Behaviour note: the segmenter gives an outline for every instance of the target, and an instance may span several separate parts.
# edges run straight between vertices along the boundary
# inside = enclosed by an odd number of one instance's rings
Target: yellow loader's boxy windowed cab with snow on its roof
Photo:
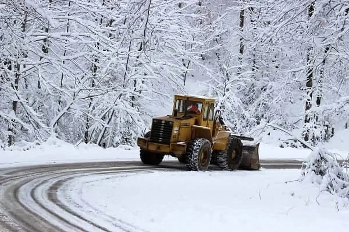
[[[212,133],[214,103],[214,98],[175,95],[172,116],[178,119],[195,118],[195,125],[209,127]]]

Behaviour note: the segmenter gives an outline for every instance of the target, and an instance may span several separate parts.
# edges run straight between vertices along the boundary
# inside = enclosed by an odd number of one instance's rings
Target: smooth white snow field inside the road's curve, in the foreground
[[[295,182],[299,176],[299,170],[92,175],[70,181],[60,194],[95,223],[119,221],[137,231],[347,229],[348,202]]]

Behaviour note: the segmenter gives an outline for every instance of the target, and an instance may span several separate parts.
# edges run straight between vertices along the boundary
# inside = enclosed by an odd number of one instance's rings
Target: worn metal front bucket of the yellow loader
[[[259,161],[259,143],[253,144],[246,141],[253,141],[253,138],[237,136],[243,143],[242,159],[239,169],[243,170],[259,170],[261,164]]]

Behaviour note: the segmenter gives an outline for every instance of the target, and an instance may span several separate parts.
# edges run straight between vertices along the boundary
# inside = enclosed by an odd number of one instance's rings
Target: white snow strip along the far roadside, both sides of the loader
[[[347,134],[344,135],[348,136]],[[346,147],[344,144],[348,140],[349,139],[345,139],[342,142],[333,140],[335,145],[329,143],[326,146],[330,149],[330,151],[339,154],[343,158],[346,158],[349,154],[349,147]],[[337,149],[337,147],[340,149]],[[309,149],[296,149],[291,147],[280,148],[276,143],[273,144],[269,141],[262,142],[259,147],[260,159],[304,160],[309,156],[309,154]],[[165,158],[165,160],[174,159],[175,158],[173,157]],[[118,148],[103,149],[97,145],[84,143],[81,143],[76,147],[58,139],[50,138],[42,145],[23,143],[22,145],[12,147],[11,150],[0,152],[0,167],[47,163],[126,160],[139,160],[138,147],[122,146]]]

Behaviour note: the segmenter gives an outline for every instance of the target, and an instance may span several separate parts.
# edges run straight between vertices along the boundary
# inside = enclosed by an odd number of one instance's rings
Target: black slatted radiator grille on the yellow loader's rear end
[[[172,134],[172,121],[154,119],[151,125],[150,142],[170,144]]]

